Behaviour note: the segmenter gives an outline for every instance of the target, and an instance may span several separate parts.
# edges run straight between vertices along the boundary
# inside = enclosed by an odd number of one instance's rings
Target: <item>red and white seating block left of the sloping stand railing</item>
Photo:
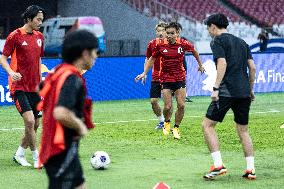
[[[218,0],[122,0],[147,16],[164,21],[176,20],[184,26],[183,36],[193,41],[210,39],[203,20],[210,14],[221,12],[230,20],[229,30],[235,35],[256,38],[260,28],[251,24]]]

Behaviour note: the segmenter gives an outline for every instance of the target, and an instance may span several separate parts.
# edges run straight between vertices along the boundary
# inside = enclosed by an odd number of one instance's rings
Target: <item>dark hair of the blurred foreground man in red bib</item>
[[[64,62],[72,64],[82,56],[84,50],[98,48],[97,37],[87,30],[70,32],[63,41],[62,58]]]

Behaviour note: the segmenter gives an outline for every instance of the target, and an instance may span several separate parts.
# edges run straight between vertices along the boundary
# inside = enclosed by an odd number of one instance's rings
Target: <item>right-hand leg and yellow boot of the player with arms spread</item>
[[[185,109],[185,87],[179,88],[175,91],[176,101],[177,101],[177,110],[175,113],[175,125],[173,128],[173,134],[175,139],[180,139],[179,125],[182,122]]]

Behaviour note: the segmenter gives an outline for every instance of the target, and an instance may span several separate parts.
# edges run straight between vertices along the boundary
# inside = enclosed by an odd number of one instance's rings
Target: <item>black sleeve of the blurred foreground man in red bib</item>
[[[82,81],[77,76],[70,75],[67,77],[61,88],[57,106],[63,106],[69,110],[73,110],[82,87]]]

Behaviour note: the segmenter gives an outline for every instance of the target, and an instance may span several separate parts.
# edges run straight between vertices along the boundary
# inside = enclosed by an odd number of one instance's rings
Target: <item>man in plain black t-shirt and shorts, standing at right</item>
[[[237,133],[247,162],[243,177],[256,179],[253,144],[248,133],[249,109],[251,101],[255,98],[254,61],[246,42],[227,32],[229,23],[225,15],[213,14],[206,19],[205,25],[213,37],[210,46],[217,67],[217,78],[211,94],[212,102],[202,123],[204,137],[214,161],[214,166],[204,175],[204,179],[211,180],[227,172],[222,162],[214,127],[217,122],[223,121],[229,109],[234,112]]]

